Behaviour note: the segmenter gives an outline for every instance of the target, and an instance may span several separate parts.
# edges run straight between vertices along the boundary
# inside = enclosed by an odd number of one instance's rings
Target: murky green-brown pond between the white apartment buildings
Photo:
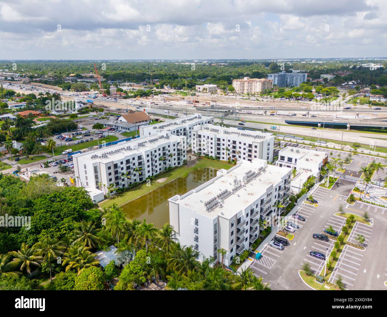
[[[215,176],[216,170],[213,168],[192,171],[187,177],[176,178],[121,207],[128,219],[140,221],[146,219],[147,223],[153,223],[156,228],[162,228],[164,223],[169,223],[168,199],[175,195],[182,195]]]

